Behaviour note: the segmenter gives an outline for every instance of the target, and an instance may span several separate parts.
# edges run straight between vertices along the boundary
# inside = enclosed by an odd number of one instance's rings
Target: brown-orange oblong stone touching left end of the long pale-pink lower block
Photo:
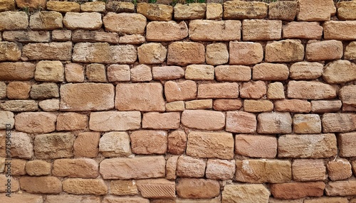
[[[99,165],[89,158],[57,159],[53,162],[52,174],[59,177],[95,178],[99,175]]]

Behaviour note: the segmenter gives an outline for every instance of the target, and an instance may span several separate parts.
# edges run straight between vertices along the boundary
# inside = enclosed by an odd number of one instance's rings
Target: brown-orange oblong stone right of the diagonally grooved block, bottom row
[[[216,180],[182,178],[177,183],[177,194],[182,198],[207,199],[217,197],[219,193],[219,182]]]

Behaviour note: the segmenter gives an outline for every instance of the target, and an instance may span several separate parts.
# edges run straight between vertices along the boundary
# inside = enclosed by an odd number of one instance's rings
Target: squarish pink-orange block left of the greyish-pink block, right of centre
[[[257,120],[255,114],[244,111],[226,112],[226,131],[233,133],[255,133],[256,126]]]

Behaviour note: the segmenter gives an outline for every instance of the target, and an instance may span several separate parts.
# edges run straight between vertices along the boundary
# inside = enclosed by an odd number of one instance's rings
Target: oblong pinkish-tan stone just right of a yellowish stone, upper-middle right
[[[215,77],[217,81],[247,82],[251,79],[251,67],[245,65],[219,65],[215,67]]]

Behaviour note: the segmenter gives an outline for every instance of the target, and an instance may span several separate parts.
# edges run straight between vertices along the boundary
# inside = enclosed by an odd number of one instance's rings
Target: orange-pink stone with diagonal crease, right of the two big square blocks
[[[192,80],[164,83],[164,96],[168,102],[196,99],[197,83]]]

